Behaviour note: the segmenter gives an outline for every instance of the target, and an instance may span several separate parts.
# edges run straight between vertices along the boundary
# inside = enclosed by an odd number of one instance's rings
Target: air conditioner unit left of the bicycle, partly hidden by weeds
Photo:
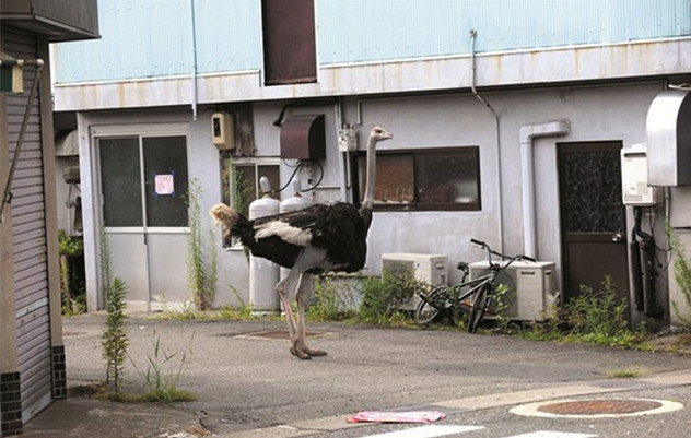
[[[382,254],[382,269],[391,273],[411,271],[415,280],[436,286],[448,281],[446,271],[446,256],[418,254],[408,252]],[[419,297],[401,306],[401,310],[414,310]]]

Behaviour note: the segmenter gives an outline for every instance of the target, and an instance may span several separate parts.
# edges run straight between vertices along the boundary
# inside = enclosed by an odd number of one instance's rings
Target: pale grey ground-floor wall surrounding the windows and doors
[[[356,97],[343,99],[342,114],[331,105],[317,107],[291,107],[286,116],[294,114],[325,114],[327,157],[324,161],[325,177],[319,189],[311,196],[317,202],[331,202],[343,198],[349,178],[341,171],[341,156],[337,147],[337,126],[355,127],[359,147],[364,150],[366,135],[374,125],[385,127],[394,139],[379,143],[383,150],[407,147],[480,146],[481,211],[467,212],[377,212],[368,237],[366,270],[380,272],[380,257],[385,252],[443,253],[448,256],[449,280],[458,280],[455,269],[457,260],[481,260],[484,254],[469,245],[469,239],[487,240],[507,253],[524,252],[523,206],[520,185],[519,129],[531,123],[552,120],[569,120],[571,132],[565,137],[539,138],[534,142],[537,251],[540,260],[555,261],[561,281],[561,224],[559,217],[559,184],[557,169],[558,142],[621,141],[624,146],[645,141],[645,118],[648,105],[663,90],[661,82],[640,84],[598,85],[567,87],[559,86],[531,91],[482,92],[482,96],[495,108],[500,118],[500,149],[496,144],[495,120],[492,113],[470,93],[445,95],[375,98],[359,102]],[[256,156],[277,157],[280,154],[280,129],[272,125],[284,102],[260,102],[254,105],[254,135]],[[359,110],[360,108],[360,110]],[[197,120],[191,119],[188,107],[137,111],[85,113],[80,118],[80,145],[82,164],[92,163],[89,135],[83,135],[84,126],[127,125],[163,121],[190,123],[190,178],[202,182],[202,211],[221,199],[219,155],[210,138],[210,116],[213,108],[200,107]],[[84,125],[85,123],[85,125]],[[87,128],[86,128],[87,129]],[[86,156],[84,156],[84,154]],[[84,171],[84,169],[82,169]],[[292,168],[283,165],[283,184]],[[501,191],[497,187],[501,175]],[[304,176],[304,175],[303,175]],[[313,174],[316,179],[316,175]],[[93,188],[82,176],[84,198]],[[306,181],[303,181],[306,185]],[[691,202],[684,190],[672,197],[672,205]],[[291,196],[291,191],[283,197]],[[677,199],[678,198],[678,199]],[[501,205],[500,205],[501,203]],[[95,218],[84,205],[85,227],[95,229]],[[657,210],[663,217],[661,206]],[[500,214],[501,212],[501,214]],[[86,217],[89,216],[89,217]],[[628,210],[629,238],[633,226],[631,209]],[[212,229],[219,254],[218,305],[237,305],[236,291],[242,299],[248,300],[248,262],[239,249],[221,248],[221,230],[211,225],[204,215],[203,225]],[[687,221],[688,222],[688,221]],[[663,247],[664,221],[656,222],[655,237]],[[93,237],[86,244],[94,246]],[[87,250],[87,256],[93,250]],[[93,252],[92,252],[93,253]],[[181,256],[180,256],[181,257]],[[97,264],[87,268],[90,287],[94,287]],[[666,273],[660,272],[658,287],[666,295]],[[186,285],[181,285],[186,287]],[[90,296],[93,292],[90,292]],[[93,298],[93,296],[92,296]]]

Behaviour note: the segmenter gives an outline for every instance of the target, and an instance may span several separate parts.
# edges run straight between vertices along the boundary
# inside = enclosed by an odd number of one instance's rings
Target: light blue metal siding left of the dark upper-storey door
[[[192,73],[191,0],[98,0],[98,40],[57,45],[56,83]],[[259,0],[194,0],[198,73],[261,67]]]

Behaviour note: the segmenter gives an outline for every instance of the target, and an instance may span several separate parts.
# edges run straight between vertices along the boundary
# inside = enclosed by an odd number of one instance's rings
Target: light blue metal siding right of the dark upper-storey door
[[[691,35],[689,0],[318,0],[323,64]]]

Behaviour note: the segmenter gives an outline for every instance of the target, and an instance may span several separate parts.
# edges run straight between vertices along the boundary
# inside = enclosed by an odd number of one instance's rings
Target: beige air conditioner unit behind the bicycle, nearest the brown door
[[[470,279],[484,275],[487,261],[470,263]],[[554,262],[515,261],[500,273],[497,283],[508,287],[506,316],[518,321],[544,321],[559,306]]]

